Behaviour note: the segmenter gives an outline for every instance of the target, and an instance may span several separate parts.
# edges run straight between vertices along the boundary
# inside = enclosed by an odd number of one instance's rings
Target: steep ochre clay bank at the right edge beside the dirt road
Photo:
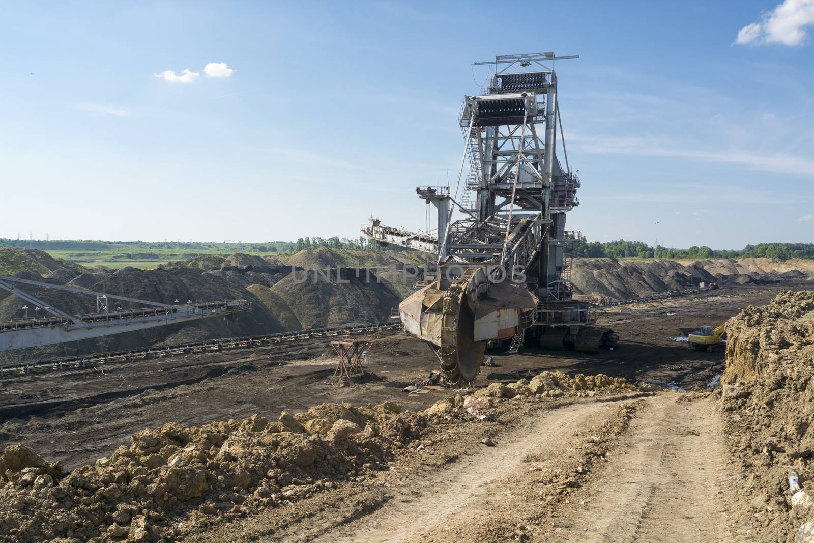
[[[726,323],[723,407],[733,482],[759,541],[814,541],[814,291],[781,291]]]

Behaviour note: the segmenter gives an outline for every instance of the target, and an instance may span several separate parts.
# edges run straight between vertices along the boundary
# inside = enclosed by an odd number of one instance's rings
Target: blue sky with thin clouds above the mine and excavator
[[[471,63],[554,50],[580,55],[554,66],[569,229],[812,242],[814,5],[778,1],[3,2],[0,237],[417,230]]]

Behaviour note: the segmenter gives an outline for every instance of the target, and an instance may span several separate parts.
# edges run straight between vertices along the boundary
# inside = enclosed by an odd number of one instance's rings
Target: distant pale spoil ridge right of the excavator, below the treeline
[[[698,287],[699,282],[762,285],[784,280],[814,279],[814,261],[781,261],[768,258],[713,259],[682,263],[615,258],[579,258],[571,281],[575,291],[613,300],[629,300],[671,289]]]

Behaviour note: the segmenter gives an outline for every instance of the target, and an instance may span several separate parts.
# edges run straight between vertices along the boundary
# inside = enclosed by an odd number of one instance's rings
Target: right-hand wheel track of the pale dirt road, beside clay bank
[[[750,541],[728,514],[720,415],[709,400],[659,396],[641,409],[567,541]]]

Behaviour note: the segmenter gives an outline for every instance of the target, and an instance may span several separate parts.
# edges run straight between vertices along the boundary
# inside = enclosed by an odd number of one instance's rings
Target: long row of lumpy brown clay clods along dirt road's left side
[[[632,389],[605,375],[544,372],[418,413],[392,402],[345,403],[283,411],[277,422],[253,415],[202,427],[168,423],[134,434],[110,458],[66,476],[31,449],[10,445],[0,457],[0,541],[173,541],[213,520],[374,476],[427,427],[475,423],[505,401]]]

